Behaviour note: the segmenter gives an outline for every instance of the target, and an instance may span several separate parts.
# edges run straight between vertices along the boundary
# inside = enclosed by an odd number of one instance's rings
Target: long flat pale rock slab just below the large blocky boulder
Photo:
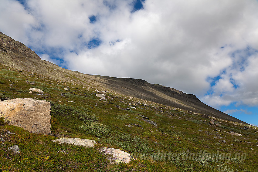
[[[86,146],[86,147],[94,147],[94,144],[97,144],[95,140],[70,138],[70,137],[59,138],[59,139],[53,140],[53,142],[68,143],[68,144],[74,144],[76,146]]]

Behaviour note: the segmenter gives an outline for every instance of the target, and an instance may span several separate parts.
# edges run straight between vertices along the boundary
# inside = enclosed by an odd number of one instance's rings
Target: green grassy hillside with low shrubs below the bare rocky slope
[[[29,94],[31,87],[44,93]],[[106,100],[99,100],[96,88],[93,83],[80,86],[0,65],[0,97],[50,101],[52,130],[51,136],[33,134],[0,119],[0,137],[5,140],[0,143],[0,171],[258,171],[257,127],[243,130],[245,124],[220,119],[209,125],[210,119],[201,113],[111,91]],[[124,110],[130,106],[136,110]],[[93,139],[97,145],[85,148],[51,141],[57,137]],[[20,154],[8,150],[15,144]],[[134,160],[110,164],[100,147],[119,148]]]

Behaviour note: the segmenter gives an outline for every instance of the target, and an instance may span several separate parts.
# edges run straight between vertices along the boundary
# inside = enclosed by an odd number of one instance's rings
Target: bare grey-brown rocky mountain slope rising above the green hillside
[[[186,111],[205,113],[224,120],[245,123],[202,103],[195,95],[186,94],[174,88],[151,84],[141,79],[88,75],[61,68],[41,60],[31,49],[2,32],[0,32],[0,63],[30,75],[54,78],[78,86],[88,86]]]

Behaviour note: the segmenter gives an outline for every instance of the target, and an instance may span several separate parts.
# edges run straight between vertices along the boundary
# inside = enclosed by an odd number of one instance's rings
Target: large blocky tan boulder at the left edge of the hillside
[[[0,102],[0,117],[32,133],[50,134],[50,109],[46,100],[11,99]]]

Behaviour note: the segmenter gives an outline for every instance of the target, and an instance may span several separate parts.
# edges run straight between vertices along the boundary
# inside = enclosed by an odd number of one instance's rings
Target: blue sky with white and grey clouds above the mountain
[[[86,74],[195,94],[258,125],[257,0],[0,0],[0,31]]]

